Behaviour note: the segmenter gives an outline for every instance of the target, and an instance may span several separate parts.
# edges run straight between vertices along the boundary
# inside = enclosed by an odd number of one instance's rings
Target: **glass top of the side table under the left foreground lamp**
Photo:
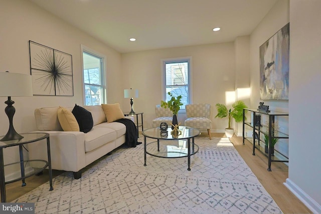
[[[22,135],[24,138],[18,140],[0,141],[0,148],[31,143],[49,137],[48,133],[43,132],[22,133],[20,135]],[[0,139],[2,139],[2,137],[0,137]]]

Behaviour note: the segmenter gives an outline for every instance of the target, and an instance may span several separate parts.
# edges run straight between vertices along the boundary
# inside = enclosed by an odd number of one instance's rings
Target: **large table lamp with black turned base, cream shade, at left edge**
[[[9,130],[1,141],[22,139],[23,136],[18,134],[14,128],[13,118],[16,112],[11,97],[33,96],[31,75],[18,74],[11,72],[0,72],[0,97],[8,97],[5,102],[7,107],[5,112],[9,119]]]

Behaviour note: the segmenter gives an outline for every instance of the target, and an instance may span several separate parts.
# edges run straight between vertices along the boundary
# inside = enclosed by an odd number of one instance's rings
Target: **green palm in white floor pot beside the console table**
[[[243,120],[243,109],[247,108],[247,105],[245,105],[244,101],[237,100],[232,104],[233,110],[232,108],[227,109],[224,104],[217,103],[215,106],[217,109],[217,115],[215,116],[215,118],[227,117],[229,125],[227,128],[225,128],[225,135],[227,137],[232,137],[234,134],[234,129],[231,128],[231,120],[232,118],[234,118],[236,123],[241,122]]]

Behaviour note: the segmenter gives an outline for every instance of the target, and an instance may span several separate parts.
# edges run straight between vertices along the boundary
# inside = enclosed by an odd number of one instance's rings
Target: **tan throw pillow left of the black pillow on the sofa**
[[[57,115],[59,123],[64,131],[80,131],[78,122],[71,111],[59,106]]]

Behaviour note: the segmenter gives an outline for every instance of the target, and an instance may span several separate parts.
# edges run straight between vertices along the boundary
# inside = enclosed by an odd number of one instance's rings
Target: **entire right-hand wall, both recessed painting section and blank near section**
[[[259,98],[259,47],[290,23],[289,101],[266,101],[270,109],[289,113],[279,126],[289,133],[277,143],[289,155],[289,178],[285,185],[314,213],[321,213],[321,144],[318,133],[321,114],[321,2],[319,0],[279,0],[250,35],[251,107]],[[288,125],[287,125],[288,124]],[[273,163],[272,172],[273,173]]]

